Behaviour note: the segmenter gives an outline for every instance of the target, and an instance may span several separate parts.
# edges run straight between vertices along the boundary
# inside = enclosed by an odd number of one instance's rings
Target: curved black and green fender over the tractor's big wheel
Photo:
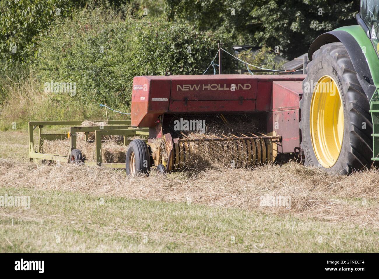
[[[349,27],[354,27],[352,32],[348,32]],[[370,100],[376,90],[376,85],[379,85],[379,84],[374,83],[376,82],[376,80],[375,81],[373,80],[373,75],[371,74],[371,71],[370,71],[370,65],[367,60],[367,55],[371,55],[371,60],[370,60],[372,61],[371,63],[376,64],[376,65],[371,65],[371,67],[374,67],[376,69],[379,69],[379,59],[377,58],[376,52],[374,50],[373,45],[370,42],[370,39],[367,38],[363,29],[360,26],[349,26],[349,27],[338,28],[336,30],[333,30],[333,31],[330,31],[318,36],[309,47],[308,57],[309,57],[309,60],[312,61],[313,53],[324,44],[336,43],[336,42],[342,43],[345,46],[351,58],[354,69],[357,72],[358,81],[360,85],[362,86],[363,91],[365,91],[367,98]],[[357,39],[352,35],[352,33],[359,32],[359,30],[357,30],[357,28],[355,27],[358,27],[360,28],[360,30],[362,30],[363,35],[366,37],[368,41],[363,39],[361,36],[360,38],[361,44],[358,43]],[[345,29],[348,31],[339,30],[339,29]],[[362,39],[364,43],[362,43]],[[363,49],[364,49],[363,47],[365,47],[366,53],[363,52]],[[372,58],[372,55],[375,55],[375,59]]]

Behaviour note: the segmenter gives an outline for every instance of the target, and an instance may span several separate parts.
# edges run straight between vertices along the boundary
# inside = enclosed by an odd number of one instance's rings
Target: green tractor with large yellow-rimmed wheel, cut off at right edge
[[[379,0],[356,17],[313,41],[300,102],[305,165],[337,174],[379,161]]]

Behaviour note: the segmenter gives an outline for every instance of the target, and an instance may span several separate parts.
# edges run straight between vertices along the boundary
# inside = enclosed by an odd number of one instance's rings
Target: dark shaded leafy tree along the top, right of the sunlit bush
[[[169,20],[232,33],[236,44],[266,45],[292,59],[324,32],[356,25],[359,1],[166,0]]]

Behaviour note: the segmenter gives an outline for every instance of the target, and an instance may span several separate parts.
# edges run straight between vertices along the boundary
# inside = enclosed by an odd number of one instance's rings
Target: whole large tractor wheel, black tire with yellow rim
[[[370,102],[342,43],[313,54],[300,101],[305,165],[347,174],[371,166]]]

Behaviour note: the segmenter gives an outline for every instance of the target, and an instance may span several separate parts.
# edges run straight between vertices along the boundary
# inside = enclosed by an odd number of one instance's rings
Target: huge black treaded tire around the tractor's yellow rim
[[[370,102],[359,84],[348,52],[342,43],[330,43],[317,50],[312,58],[307,66],[307,77],[303,81],[303,96],[300,101],[299,128],[302,136],[301,148],[305,157],[304,164],[318,166],[334,174],[347,174],[370,167],[373,156],[371,137],[373,125],[368,112]],[[313,91],[306,88],[307,83],[316,83],[325,75],[333,77],[338,84],[344,115],[341,152],[334,166],[330,168],[321,166],[313,150],[310,136],[310,106]]]

